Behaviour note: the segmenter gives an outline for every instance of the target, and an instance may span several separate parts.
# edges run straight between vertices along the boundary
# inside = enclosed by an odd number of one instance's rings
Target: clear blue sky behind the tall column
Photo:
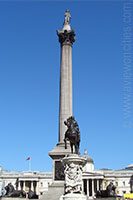
[[[59,119],[56,30],[62,28],[68,8],[76,32],[73,114],[81,132],[80,152],[88,150],[96,169],[121,169],[133,163],[133,105],[127,117],[123,100],[123,7],[122,1],[0,1],[0,165],[4,169],[26,171],[30,156],[32,170],[52,171],[48,152],[58,142]],[[129,96],[132,80],[130,84]],[[133,102],[132,96],[129,101]]]

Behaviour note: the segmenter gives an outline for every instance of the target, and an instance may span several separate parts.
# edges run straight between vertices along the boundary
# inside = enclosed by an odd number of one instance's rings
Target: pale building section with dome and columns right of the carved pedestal
[[[83,171],[83,191],[91,199],[99,190],[105,190],[110,182],[116,186],[116,193],[123,196],[124,193],[133,192],[133,165],[124,169],[94,169],[94,161],[85,151],[87,164]]]

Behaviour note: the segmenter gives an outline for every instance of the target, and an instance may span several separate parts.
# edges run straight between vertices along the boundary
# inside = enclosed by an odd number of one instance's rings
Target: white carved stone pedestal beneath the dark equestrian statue
[[[60,200],[87,199],[82,193],[82,171],[86,159],[78,154],[69,154],[62,159],[64,165],[64,195]]]

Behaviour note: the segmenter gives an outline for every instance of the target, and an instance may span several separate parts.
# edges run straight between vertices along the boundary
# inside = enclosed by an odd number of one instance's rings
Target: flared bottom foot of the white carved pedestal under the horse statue
[[[87,196],[83,194],[66,194],[62,195],[59,200],[87,200]]]

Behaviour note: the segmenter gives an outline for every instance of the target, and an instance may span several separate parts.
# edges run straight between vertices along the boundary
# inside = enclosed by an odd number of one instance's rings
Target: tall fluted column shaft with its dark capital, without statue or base
[[[64,121],[72,116],[72,44],[75,32],[62,30],[57,31],[57,35],[61,44],[59,144],[62,144],[67,129]]]

